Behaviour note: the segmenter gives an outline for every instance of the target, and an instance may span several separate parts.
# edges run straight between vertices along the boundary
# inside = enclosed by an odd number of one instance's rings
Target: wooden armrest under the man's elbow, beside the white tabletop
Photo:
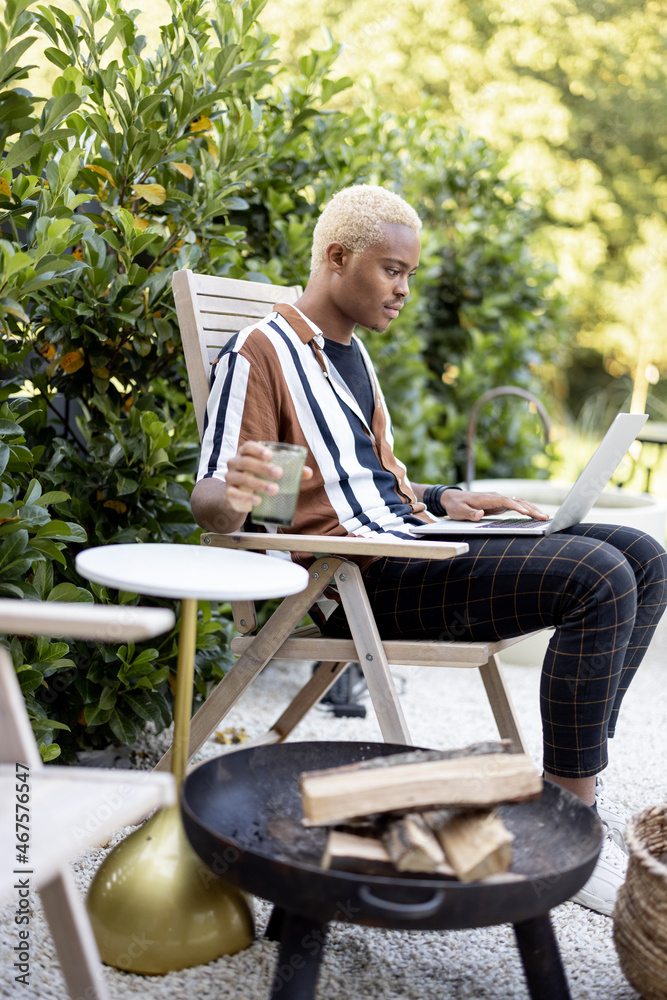
[[[211,531],[201,536],[202,545],[228,549],[258,549],[262,552],[311,552],[313,555],[396,556],[403,559],[451,559],[468,551],[465,542],[433,542],[416,538],[393,541],[338,535],[273,535],[237,531],[220,535]]]

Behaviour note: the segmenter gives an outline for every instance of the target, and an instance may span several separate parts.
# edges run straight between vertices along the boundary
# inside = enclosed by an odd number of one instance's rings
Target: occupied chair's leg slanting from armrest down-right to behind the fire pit
[[[346,562],[336,570],[334,576],[382,737],[387,743],[411,746],[412,740],[361,571],[355,563]]]

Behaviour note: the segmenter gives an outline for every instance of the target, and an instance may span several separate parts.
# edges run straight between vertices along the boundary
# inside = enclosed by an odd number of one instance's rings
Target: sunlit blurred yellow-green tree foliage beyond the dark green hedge
[[[661,0],[269,0],[282,58],[330,28],[339,66],[387,109],[462,123],[507,156],[542,206],[537,246],[558,265],[573,360],[594,348],[612,374],[647,382],[667,369],[667,5]],[[657,235],[656,235],[657,234]],[[638,263],[638,261],[641,263]],[[639,275],[637,273],[641,272]],[[664,284],[664,282],[663,282]],[[641,319],[635,306],[641,301]]]

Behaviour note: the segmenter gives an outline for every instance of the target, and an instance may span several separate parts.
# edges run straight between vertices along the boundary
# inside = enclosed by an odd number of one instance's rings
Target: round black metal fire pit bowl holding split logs
[[[213,872],[319,925],[349,921],[413,930],[516,925],[547,914],[588,880],[600,850],[600,821],[580,799],[549,782],[538,799],[499,807],[515,837],[516,881],[462,883],[427,874],[323,869],[327,833],[301,826],[301,773],[408,749],[387,743],[285,743],[206,761],[182,790],[190,842]]]

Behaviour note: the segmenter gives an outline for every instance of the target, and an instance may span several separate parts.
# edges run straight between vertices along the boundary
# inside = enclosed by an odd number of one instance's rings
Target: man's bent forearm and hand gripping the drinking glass
[[[190,502],[197,523],[222,534],[238,531],[247,514],[261,503],[260,494],[278,492],[282,474],[280,466],[271,463],[270,448],[246,441],[229,460],[224,483],[213,477],[195,485]],[[304,466],[303,478],[312,479],[312,475],[313,470]]]

